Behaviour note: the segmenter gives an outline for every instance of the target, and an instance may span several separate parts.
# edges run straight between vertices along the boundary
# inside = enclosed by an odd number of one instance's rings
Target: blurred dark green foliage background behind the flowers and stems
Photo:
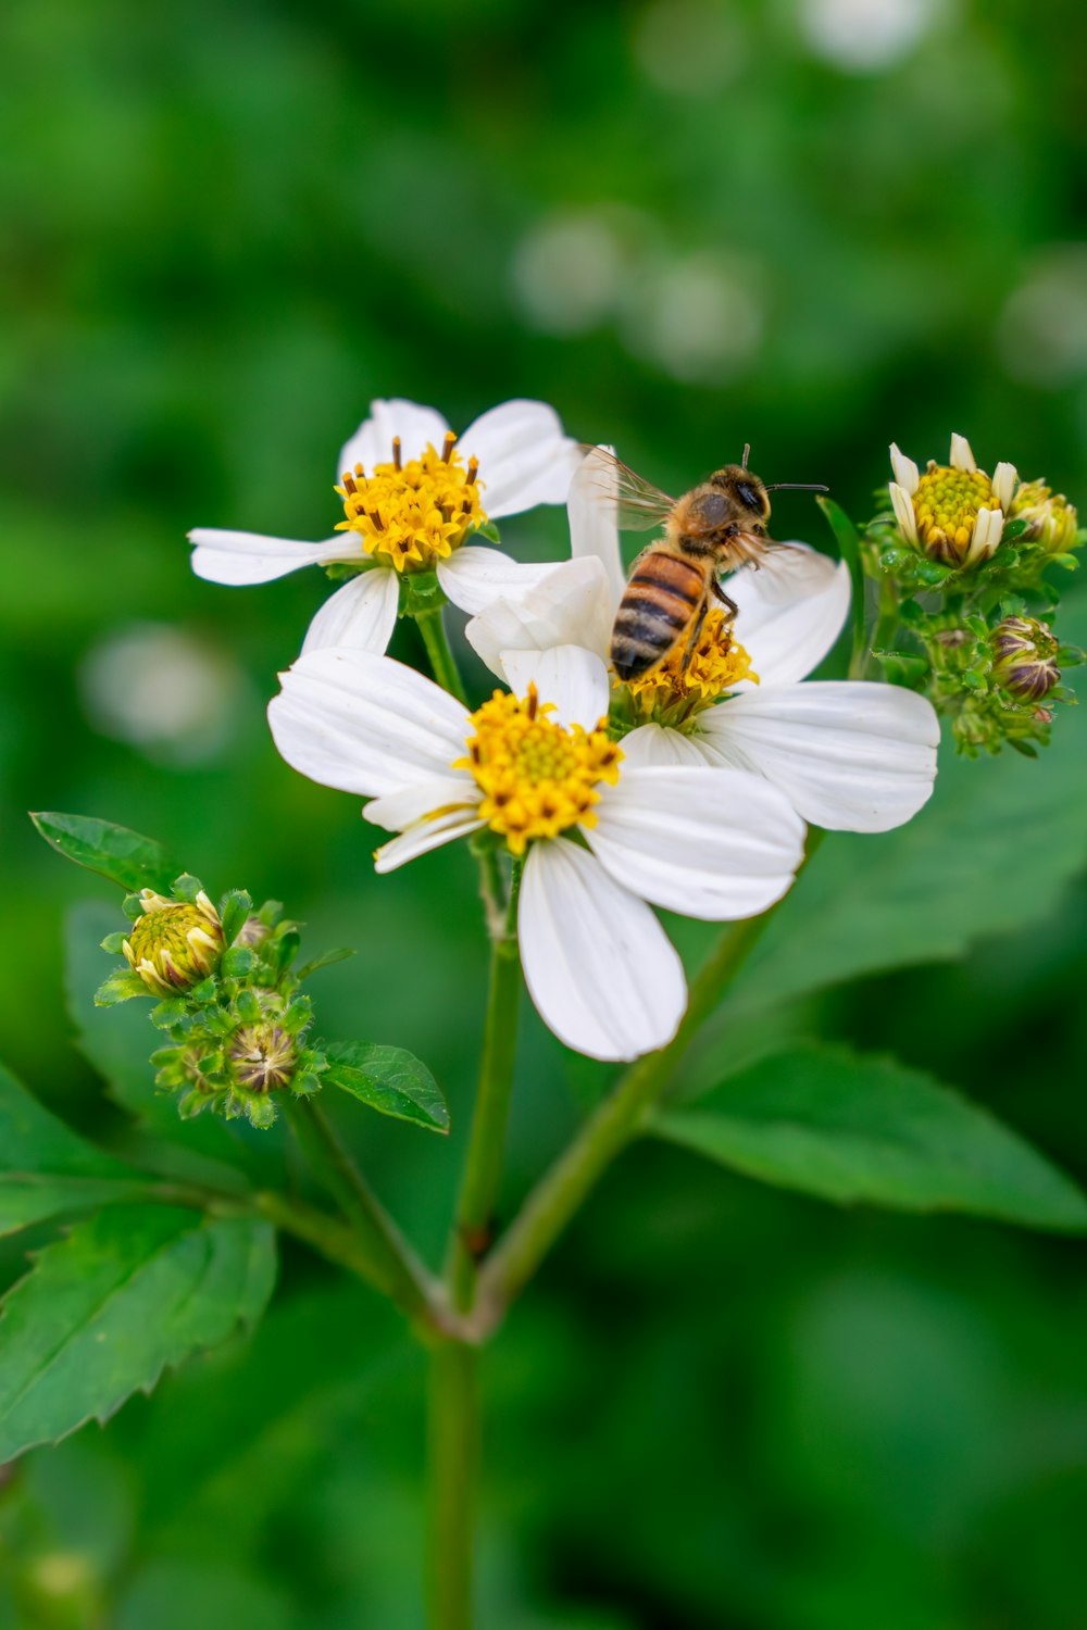
[[[321,1027],[419,1051],[456,1131],[341,1121],[437,1257],[482,999],[469,859],[372,875],[357,800],[262,717],[324,580],[197,582],[186,530],[326,536],[380,394],[455,425],[539,396],[675,487],[750,440],[860,517],[888,440],[944,458],[955,429],[1085,500],[1084,44],[1072,0],[8,0],[7,1063],[117,1134],[62,994],[65,914],[96,903],[86,1004],[116,896],[24,810],[160,836],[213,892],[285,898],[315,950],[360,947]],[[779,515],[828,546],[808,499]],[[562,515],[505,536],[557,556]],[[1045,766],[999,769],[1045,799]],[[1087,1178],[1084,895],[789,1022],[932,1068]],[[600,1079],[525,1012],[507,1209]],[[1082,1630],[1084,1280],[1074,1242],[639,1149],[487,1358],[484,1630]],[[11,1469],[0,1625],[417,1630],[420,1403],[386,1309],[287,1249],[253,1343]]]

